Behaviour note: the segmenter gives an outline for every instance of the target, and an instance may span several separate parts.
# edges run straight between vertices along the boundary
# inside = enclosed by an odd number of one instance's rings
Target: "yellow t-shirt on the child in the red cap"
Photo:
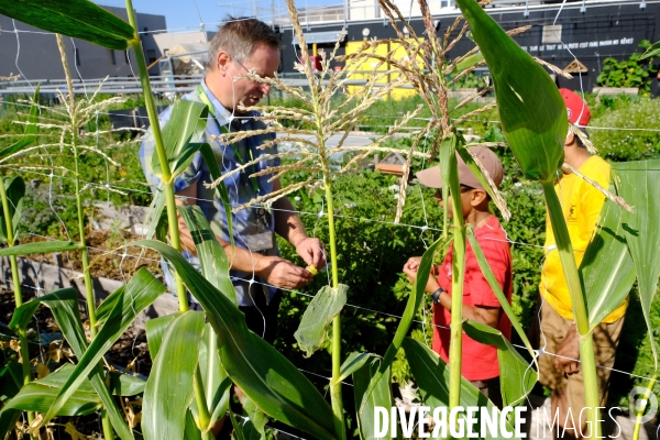
[[[580,173],[597,182],[603,188],[609,186],[609,164],[598,156],[591,156]],[[565,174],[554,185],[562,206],[575,263],[580,266],[586,245],[598,221],[605,196],[574,174]],[[573,309],[566,278],[559,261],[559,252],[552,233],[550,218],[546,217],[546,260],[541,273],[541,296],[562,317],[573,320]],[[618,306],[603,322],[612,323],[626,314],[628,298]]]

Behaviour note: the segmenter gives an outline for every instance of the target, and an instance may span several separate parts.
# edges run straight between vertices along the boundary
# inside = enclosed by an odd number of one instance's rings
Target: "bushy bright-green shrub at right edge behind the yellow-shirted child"
[[[605,101],[608,109],[591,120],[590,125],[607,128],[590,131],[598,153],[610,161],[639,161],[653,158],[660,152],[660,101],[648,98],[617,98]],[[610,130],[628,128],[637,130]],[[587,129],[588,130],[588,129]]]

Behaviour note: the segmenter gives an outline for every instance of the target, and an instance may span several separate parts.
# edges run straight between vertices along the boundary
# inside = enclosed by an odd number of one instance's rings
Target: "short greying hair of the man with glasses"
[[[252,55],[254,50],[264,45],[266,47],[282,48],[279,35],[266,23],[246,16],[228,16],[226,23],[218,29],[210,44],[210,57],[207,69],[213,70],[218,63],[218,53],[224,51],[239,62]]]

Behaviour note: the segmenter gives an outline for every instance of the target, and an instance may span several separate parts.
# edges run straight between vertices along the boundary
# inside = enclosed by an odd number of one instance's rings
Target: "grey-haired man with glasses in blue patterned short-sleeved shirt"
[[[277,153],[274,143],[260,148],[262,144],[274,140],[272,133],[253,135],[229,145],[213,140],[212,136],[266,128],[263,121],[255,120],[257,112],[241,111],[240,105],[256,106],[268,95],[271,87],[242,76],[253,70],[261,77],[273,77],[279,65],[280,45],[278,34],[267,24],[255,19],[230,18],[210,43],[206,77],[195,91],[183,97],[208,106],[209,119],[200,141],[211,145],[222,173]],[[170,112],[172,107],[160,116],[163,123],[169,119]],[[146,179],[152,190],[155,190],[158,182],[151,169],[153,154],[154,145],[150,132],[140,148],[140,158]],[[264,160],[224,180],[232,208],[280,189],[279,179],[268,182],[271,175],[250,177],[278,164],[278,160]],[[272,209],[253,206],[234,213],[230,232],[222,201],[216,196],[215,189],[205,186],[212,180],[209,168],[201,155],[197,154],[190,166],[175,182],[177,204],[197,205],[201,208],[231,263],[230,276],[235,287],[239,307],[245,314],[248,327],[273,342],[280,298],[278,289],[299,288],[312,279],[309,271],[279,257],[274,233],[292,243],[300,257],[317,268],[326,265],[323,245],[318,239],[307,235],[286,197],[275,201]],[[185,256],[193,264],[198,264],[195,243],[180,217],[179,230]],[[234,249],[230,244],[230,233],[233,235]],[[165,263],[163,266],[170,292],[176,292],[173,288],[170,272]],[[195,298],[190,299],[195,307]]]

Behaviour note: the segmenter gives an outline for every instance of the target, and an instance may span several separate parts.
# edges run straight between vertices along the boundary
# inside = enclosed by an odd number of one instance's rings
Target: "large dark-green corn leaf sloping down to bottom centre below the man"
[[[268,416],[320,439],[334,439],[330,405],[294,364],[248,330],[244,315],[165,243],[131,243],[160,252],[199,300],[219,338],[220,360],[231,380]]]

